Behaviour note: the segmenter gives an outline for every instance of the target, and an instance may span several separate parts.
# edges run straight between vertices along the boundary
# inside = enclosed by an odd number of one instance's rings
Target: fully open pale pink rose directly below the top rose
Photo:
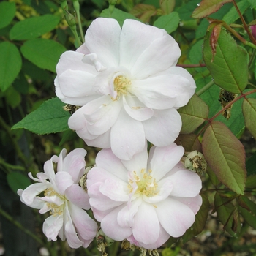
[[[146,147],[131,160],[102,149],[89,170],[87,187],[94,217],[110,238],[157,249],[170,236],[182,236],[202,204],[197,173],[184,168],[184,148]]]

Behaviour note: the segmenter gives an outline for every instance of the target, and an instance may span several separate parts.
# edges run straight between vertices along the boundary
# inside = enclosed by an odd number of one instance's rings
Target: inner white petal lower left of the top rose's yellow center
[[[119,116],[121,102],[114,101],[110,96],[94,99],[83,108],[87,129],[91,135],[102,135],[107,132]]]

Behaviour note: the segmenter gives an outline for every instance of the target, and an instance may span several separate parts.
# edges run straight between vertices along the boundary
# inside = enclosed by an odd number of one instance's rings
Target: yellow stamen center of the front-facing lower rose
[[[154,197],[159,193],[159,189],[157,181],[153,178],[150,173],[152,170],[148,170],[146,172],[145,169],[140,170],[140,175],[138,175],[135,171],[133,172],[133,178],[129,180],[128,188],[130,192],[133,192],[135,185],[137,185],[137,189],[135,190],[135,194],[146,195],[147,197]]]

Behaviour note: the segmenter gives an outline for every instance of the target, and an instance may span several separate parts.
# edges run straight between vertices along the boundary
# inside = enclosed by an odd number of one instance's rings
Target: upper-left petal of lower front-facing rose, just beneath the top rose
[[[95,159],[97,167],[101,167],[104,170],[107,170],[108,173],[100,172],[97,178],[99,178],[99,181],[102,181],[100,176],[105,178],[113,178],[117,177],[120,178],[121,181],[127,182],[127,169],[122,164],[121,160],[116,157],[110,148],[108,149],[102,149],[97,154],[97,157]],[[89,171],[89,175],[94,168],[92,168]]]

